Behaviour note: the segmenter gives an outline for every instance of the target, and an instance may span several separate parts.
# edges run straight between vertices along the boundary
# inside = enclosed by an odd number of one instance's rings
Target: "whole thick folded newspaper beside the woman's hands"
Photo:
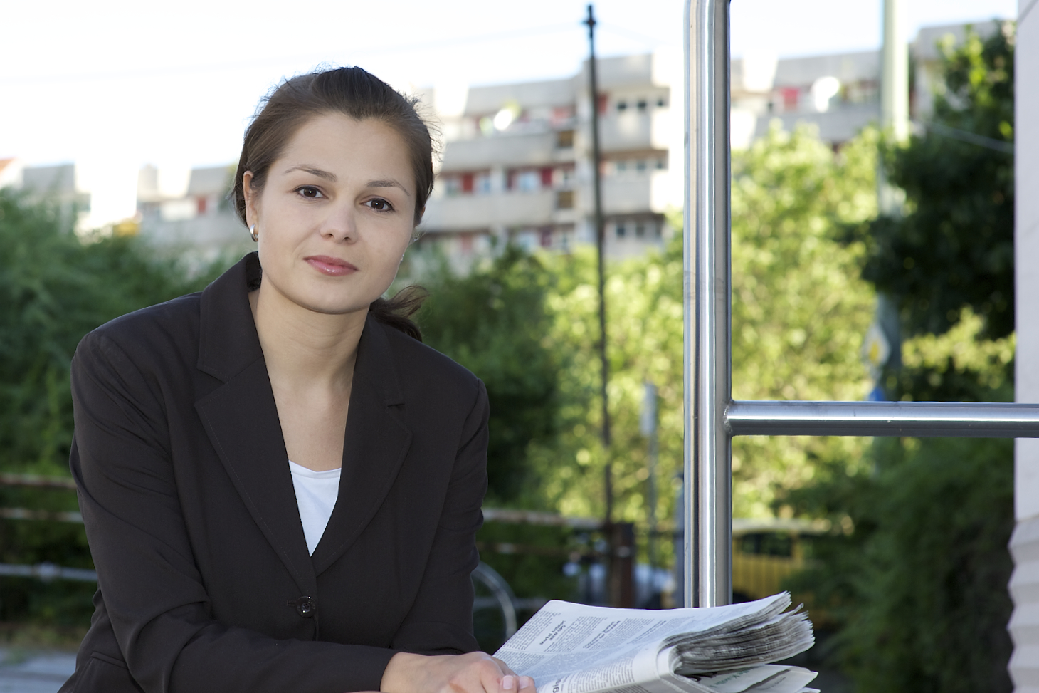
[[[610,609],[553,600],[495,657],[537,693],[800,693],[816,672],[771,664],[811,647],[790,593],[705,609]]]

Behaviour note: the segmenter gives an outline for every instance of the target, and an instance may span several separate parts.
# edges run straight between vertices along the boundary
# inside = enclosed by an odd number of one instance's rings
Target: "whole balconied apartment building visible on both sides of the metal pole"
[[[986,35],[996,24],[979,24]],[[912,114],[926,120],[940,88],[939,41],[963,26],[927,27],[910,46]],[[731,63],[732,147],[773,122],[807,123],[840,147],[880,120],[880,53],[862,51]],[[683,66],[676,53],[598,61],[602,197],[611,258],[659,248],[683,203]],[[565,252],[593,242],[591,103],[587,65],[569,79],[422,95],[443,124],[443,160],[419,254],[438,248],[458,266],[504,242]]]

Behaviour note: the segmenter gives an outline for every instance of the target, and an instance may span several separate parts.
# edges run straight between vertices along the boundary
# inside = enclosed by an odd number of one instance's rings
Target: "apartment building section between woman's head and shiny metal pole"
[[[601,59],[602,199],[611,257],[660,247],[682,207],[677,55]],[[677,70],[675,70],[677,69]],[[443,158],[418,254],[464,264],[497,245],[567,251],[594,242],[587,66],[569,79],[423,94],[443,124]],[[460,98],[459,98],[460,97]]]

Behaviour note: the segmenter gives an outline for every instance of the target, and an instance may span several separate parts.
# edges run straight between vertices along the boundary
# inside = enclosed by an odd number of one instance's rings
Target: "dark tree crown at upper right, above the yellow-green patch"
[[[998,338],[1014,329],[1014,157],[998,149],[1013,142],[1013,25],[984,41],[968,31],[942,51],[934,125],[908,146],[886,148],[906,213],[869,225],[863,276],[898,297],[913,331],[944,332],[969,306]],[[971,134],[988,146],[964,140]]]

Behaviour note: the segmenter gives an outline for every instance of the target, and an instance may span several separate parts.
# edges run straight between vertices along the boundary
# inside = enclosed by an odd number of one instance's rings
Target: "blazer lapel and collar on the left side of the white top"
[[[317,578],[248,304],[247,290],[259,280],[259,259],[250,254],[203,292],[198,368],[224,384],[195,410],[252,519],[302,593],[314,594]]]

